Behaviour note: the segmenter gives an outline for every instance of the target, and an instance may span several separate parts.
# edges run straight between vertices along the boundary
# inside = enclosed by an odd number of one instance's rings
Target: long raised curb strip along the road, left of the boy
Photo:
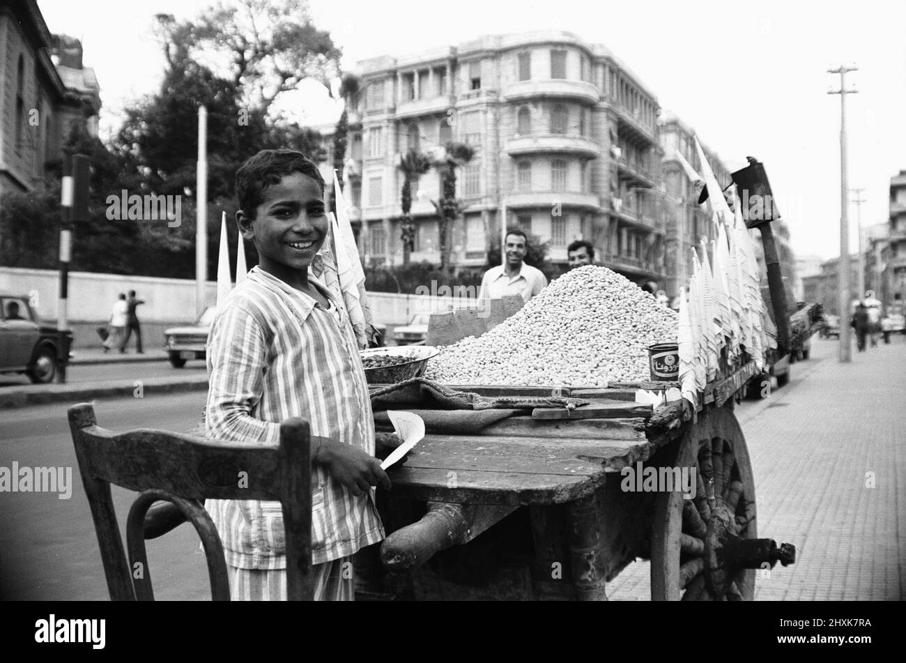
[[[141,383],[142,397],[148,394],[170,394],[181,391],[207,389],[207,375],[191,380],[118,380],[89,385],[48,385],[43,388],[0,389],[0,409],[25,408],[49,403],[76,403],[104,397],[125,398],[135,396],[136,382]]]

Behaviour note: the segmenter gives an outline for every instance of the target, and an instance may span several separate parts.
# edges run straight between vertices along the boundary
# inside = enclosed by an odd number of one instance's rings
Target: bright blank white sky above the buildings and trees
[[[101,84],[101,135],[124,106],[157,90],[164,68],[154,14],[192,18],[207,0],[38,0],[53,33],[80,37]],[[314,24],[342,47],[344,69],[377,55],[455,45],[483,34],[564,30],[602,43],[731,169],[763,161],[797,255],[840,255],[842,64],[848,187],[862,225],[888,218],[890,178],[906,170],[903,0],[310,0]],[[339,115],[323,87],[286,104],[313,125]],[[850,194],[850,198],[855,195]],[[849,207],[856,249],[857,207]]]

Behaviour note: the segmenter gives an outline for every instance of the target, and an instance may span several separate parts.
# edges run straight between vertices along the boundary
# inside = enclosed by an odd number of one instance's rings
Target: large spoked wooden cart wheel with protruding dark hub
[[[752,601],[755,570],[725,554],[726,543],[757,538],[755,480],[733,410],[711,410],[675,446],[672,466],[695,468],[697,488],[693,499],[656,497],[651,600]]]

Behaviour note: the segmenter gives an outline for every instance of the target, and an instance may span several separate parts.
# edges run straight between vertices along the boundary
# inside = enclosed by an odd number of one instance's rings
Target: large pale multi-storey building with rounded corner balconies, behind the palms
[[[482,267],[506,213],[507,226],[550,243],[555,264],[583,238],[599,263],[662,283],[660,108],[604,46],[564,32],[489,35],[359,62],[357,75],[346,175],[368,260],[402,259],[400,156],[439,156],[453,140],[475,149],[458,170],[466,208],[451,232],[453,264]],[[413,261],[439,261],[439,193],[435,169],[413,187]]]

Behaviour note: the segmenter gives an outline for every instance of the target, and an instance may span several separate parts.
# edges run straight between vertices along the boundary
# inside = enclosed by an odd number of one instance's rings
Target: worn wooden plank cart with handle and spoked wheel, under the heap
[[[755,481],[733,410],[755,374],[749,363],[710,385],[698,412],[684,400],[634,402],[636,389],[669,383],[626,383],[564,389],[591,400],[581,408],[429,433],[390,470],[393,489],[379,494],[381,563],[359,560],[360,578],[408,599],[605,600],[606,582],[641,558],[651,560],[654,600],[751,600],[757,569],[795,560],[793,546],[757,537]],[[679,483],[626,490],[627,466],[671,477],[695,467],[695,496],[684,499]]]

